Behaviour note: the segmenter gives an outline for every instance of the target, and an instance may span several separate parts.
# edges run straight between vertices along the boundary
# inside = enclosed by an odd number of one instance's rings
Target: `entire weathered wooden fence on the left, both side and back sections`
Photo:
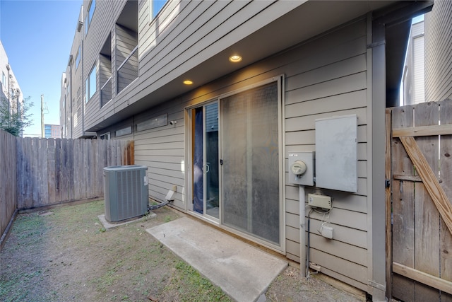
[[[133,151],[133,141],[22,138],[0,130],[1,243],[17,209],[103,197],[103,168],[133,164]]]

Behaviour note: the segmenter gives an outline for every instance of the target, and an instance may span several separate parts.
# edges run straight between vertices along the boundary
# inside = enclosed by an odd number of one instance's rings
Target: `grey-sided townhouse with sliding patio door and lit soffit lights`
[[[399,102],[411,18],[431,6],[85,0],[61,125],[66,137],[133,139],[150,197],[163,201],[175,185],[172,207],[302,266],[304,199],[332,197],[328,215],[310,214],[309,260],[384,301],[385,109]],[[356,133],[350,152],[323,135],[343,127],[338,118]],[[332,131],[316,130],[325,120]],[[331,147],[321,151],[344,155],[333,165],[350,165],[326,182],[316,168],[316,186],[299,187],[290,154],[316,151],[319,137]],[[316,167],[328,168],[321,154]],[[319,235],[323,224],[333,239]]]

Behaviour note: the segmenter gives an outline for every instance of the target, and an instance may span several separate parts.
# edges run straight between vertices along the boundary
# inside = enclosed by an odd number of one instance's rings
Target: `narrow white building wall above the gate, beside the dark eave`
[[[424,103],[424,21],[411,25],[405,73],[403,75],[403,103]]]

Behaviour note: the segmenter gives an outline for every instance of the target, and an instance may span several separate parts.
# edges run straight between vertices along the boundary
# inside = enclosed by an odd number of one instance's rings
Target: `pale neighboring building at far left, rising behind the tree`
[[[13,69],[8,61],[6,51],[0,41],[0,98],[8,100],[11,112],[20,110],[23,104],[23,93],[14,76]],[[20,134],[21,136],[22,134]]]

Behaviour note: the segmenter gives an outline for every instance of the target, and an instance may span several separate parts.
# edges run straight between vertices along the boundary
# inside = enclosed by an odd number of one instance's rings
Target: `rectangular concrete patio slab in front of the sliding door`
[[[236,301],[265,301],[261,296],[288,264],[189,217],[146,231]]]

